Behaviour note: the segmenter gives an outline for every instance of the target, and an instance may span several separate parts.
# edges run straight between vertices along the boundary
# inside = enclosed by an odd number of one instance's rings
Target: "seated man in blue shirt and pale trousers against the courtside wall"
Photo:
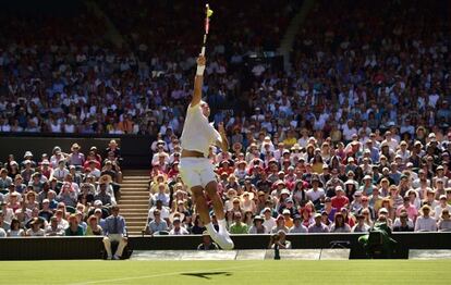
[[[122,251],[127,244],[127,238],[125,220],[122,215],[119,215],[118,206],[111,208],[111,215],[105,220],[103,234],[103,245],[107,250],[108,259],[121,259]],[[111,252],[111,241],[119,241],[118,250],[114,256],[112,256]]]

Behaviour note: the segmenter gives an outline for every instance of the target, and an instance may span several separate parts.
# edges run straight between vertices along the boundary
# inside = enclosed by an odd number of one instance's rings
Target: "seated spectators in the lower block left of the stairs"
[[[111,233],[106,219],[120,195],[120,162],[115,140],[105,150],[74,142],[68,152],[11,154],[0,166],[0,236]]]

